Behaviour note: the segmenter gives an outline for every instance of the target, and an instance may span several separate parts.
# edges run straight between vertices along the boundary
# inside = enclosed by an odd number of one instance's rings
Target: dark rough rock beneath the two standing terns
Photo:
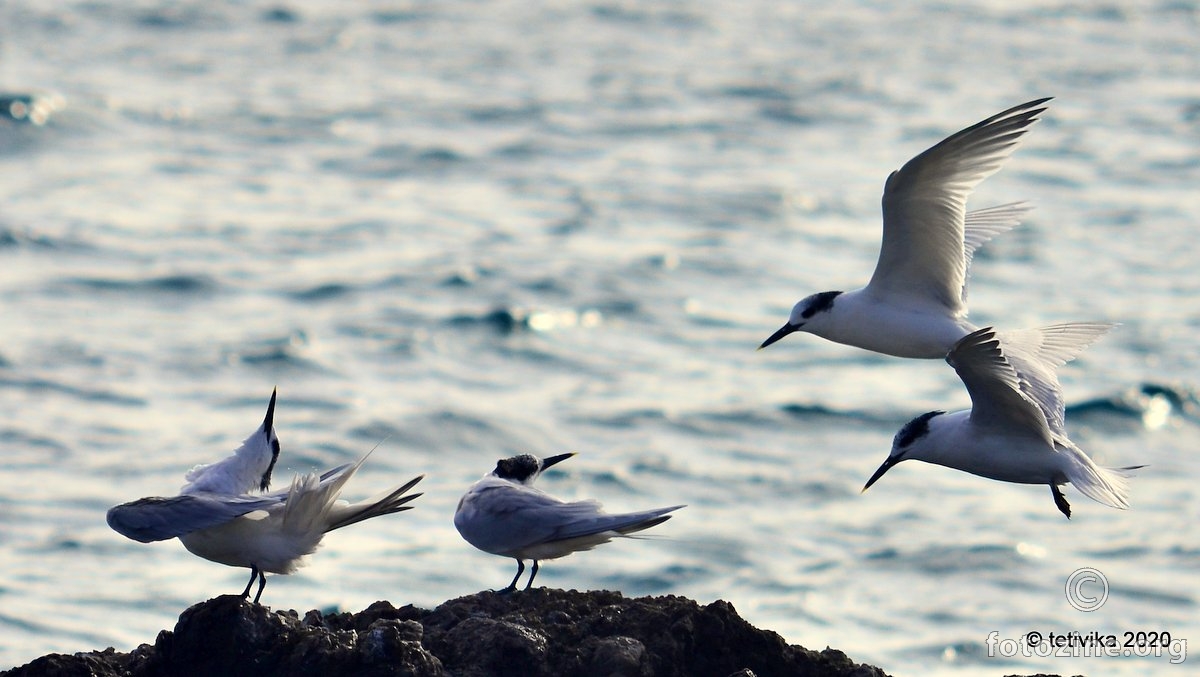
[[[49,654],[2,677],[175,675],[884,676],[836,649],[790,646],[733,606],[614,592],[484,592],[433,611],[271,611],[236,595],[197,604],[154,645]]]

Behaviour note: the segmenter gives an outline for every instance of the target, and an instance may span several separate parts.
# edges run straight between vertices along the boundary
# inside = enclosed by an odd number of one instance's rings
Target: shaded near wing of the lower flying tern
[[[946,361],[971,395],[971,423],[994,430],[1027,430],[1054,445],[1042,408],[1021,390],[1021,378],[992,328],[960,338]]]

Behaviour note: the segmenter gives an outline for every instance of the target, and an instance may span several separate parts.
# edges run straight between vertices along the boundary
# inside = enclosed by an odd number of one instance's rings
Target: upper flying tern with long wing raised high
[[[1001,168],[1048,101],[992,115],[893,172],[883,186],[883,241],[870,282],[802,299],[787,324],[758,348],[806,331],[898,358],[944,358],[976,330],[966,319],[966,277],[976,248],[1030,210],[1013,203],[967,214],[967,198]]]

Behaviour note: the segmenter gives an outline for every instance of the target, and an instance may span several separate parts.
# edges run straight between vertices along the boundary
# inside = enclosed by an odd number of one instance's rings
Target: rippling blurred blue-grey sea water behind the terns
[[[277,609],[505,585],[455,504],[502,456],[572,450],[544,489],[689,507],[541,585],[726,599],[895,675],[1165,672],[988,637],[1200,642],[1198,29],[1189,0],[8,0],[0,667],[130,651],[241,589],[103,516],[174,493],[278,387],[277,484],[380,441],[350,498],[428,478],[271,577]],[[971,203],[1037,206],[977,258],[972,319],[1122,323],[1062,381],[1084,449],[1150,465],[1133,508],[1068,487],[1068,522],[1045,487],[919,463],[859,495],[904,421],[968,405],[953,370],[755,347],[866,281],[890,170],[1049,95]],[[1090,613],[1081,567],[1110,585]]]

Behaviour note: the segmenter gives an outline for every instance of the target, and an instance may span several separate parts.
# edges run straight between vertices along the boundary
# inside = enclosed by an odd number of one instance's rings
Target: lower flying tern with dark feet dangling
[[[1052,371],[1111,328],[1073,323],[1000,335],[989,326],[962,337],[946,361],[962,379],[971,408],[950,414],[929,412],[905,424],[888,459],[863,491],[900,461],[917,460],[1000,481],[1049,485],[1055,505],[1068,519],[1070,504],[1058,489],[1067,483],[1093,501],[1128,508],[1126,478],[1142,466],[1102,468],[1092,462],[1067,438],[1057,381],[1052,387],[1030,382],[1006,354],[1014,345]],[[1058,415],[1048,418],[1043,413],[1046,408],[1056,408]]]

